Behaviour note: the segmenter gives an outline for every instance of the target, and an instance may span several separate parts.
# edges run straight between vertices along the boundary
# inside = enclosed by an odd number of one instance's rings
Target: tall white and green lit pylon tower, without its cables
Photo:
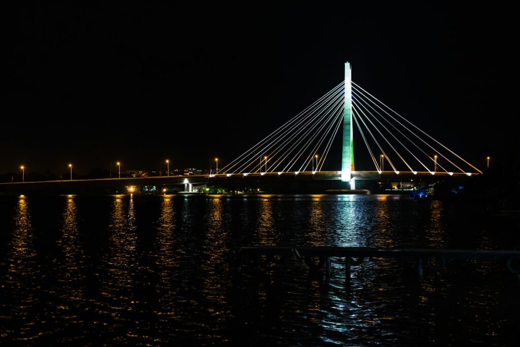
[[[343,151],[341,157],[341,180],[350,181],[354,171],[354,137],[352,124],[352,84],[350,63],[345,63],[345,105],[343,111]]]

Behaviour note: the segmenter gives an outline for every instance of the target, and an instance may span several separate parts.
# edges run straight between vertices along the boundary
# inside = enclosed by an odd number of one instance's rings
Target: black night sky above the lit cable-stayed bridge
[[[513,5],[280,3],[4,8],[0,173],[226,163],[340,83],[345,61],[475,165],[518,151]]]

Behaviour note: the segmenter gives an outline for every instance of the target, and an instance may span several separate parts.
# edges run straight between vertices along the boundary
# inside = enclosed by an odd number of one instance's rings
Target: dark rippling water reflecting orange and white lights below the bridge
[[[398,196],[0,200],[0,344],[517,345],[518,279],[393,260],[330,279],[301,262],[237,276],[251,245],[519,248],[482,204]]]

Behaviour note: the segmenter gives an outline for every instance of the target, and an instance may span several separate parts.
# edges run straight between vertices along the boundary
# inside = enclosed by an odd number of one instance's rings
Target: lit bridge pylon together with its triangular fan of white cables
[[[216,174],[317,174],[322,171],[342,124],[341,170],[337,172],[343,181],[350,182],[351,189],[355,188],[355,177],[362,172],[449,176],[482,173],[353,82],[351,71],[350,64],[345,63],[345,81]],[[375,170],[355,170],[354,134],[361,137]],[[356,155],[359,158],[360,153]]]

